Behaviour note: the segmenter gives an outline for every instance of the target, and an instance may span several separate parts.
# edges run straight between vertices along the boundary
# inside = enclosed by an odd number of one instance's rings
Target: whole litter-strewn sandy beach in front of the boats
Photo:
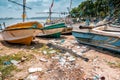
[[[85,61],[69,51],[47,46],[48,43],[72,50],[89,60]],[[19,59],[15,58],[17,54],[21,54]],[[0,56],[14,56],[1,59],[1,66],[15,66],[9,73],[3,67],[0,68],[3,80],[98,80],[101,77],[105,77],[105,80],[120,79],[120,55],[78,44],[72,35],[61,35],[58,39],[36,37],[30,46],[2,41]],[[16,62],[5,64],[11,60]]]

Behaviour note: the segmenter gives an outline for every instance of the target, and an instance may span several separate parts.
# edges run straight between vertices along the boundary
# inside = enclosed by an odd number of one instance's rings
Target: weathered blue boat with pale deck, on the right
[[[105,48],[120,53],[120,28],[108,25],[86,27],[72,32],[79,43]]]

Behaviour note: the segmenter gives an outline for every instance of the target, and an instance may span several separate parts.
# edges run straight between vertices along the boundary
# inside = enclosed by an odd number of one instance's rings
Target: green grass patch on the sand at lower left
[[[20,61],[23,56],[25,56],[27,58],[27,61],[29,61],[30,59],[33,59],[32,54],[26,54],[23,51],[20,51],[16,54],[6,55],[6,56],[0,57],[0,72],[2,73],[3,79],[12,76],[11,75],[12,71],[18,70],[15,65],[10,63],[10,60]],[[4,64],[4,62],[9,62],[9,64]]]

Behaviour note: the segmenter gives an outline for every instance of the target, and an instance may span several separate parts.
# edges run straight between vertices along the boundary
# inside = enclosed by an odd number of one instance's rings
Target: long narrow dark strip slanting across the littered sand
[[[83,57],[83,56],[81,56],[81,55],[76,54],[76,53],[73,52],[71,49],[67,49],[67,48],[65,48],[65,47],[61,47],[61,46],[58,46],[58,45],[54,45],[54,44],[52,44],[52,43],[48,43],[47,46],[53,47],[53,48],[55,48],[55,49],[59,49],[59,50],[61,50],[62,52],[69,52],[69,53],[72,54],[73,56],[75,56],[75,57],[80,57],[81,59],[83,59],[83,60],[86,61],[86,62],[89,61],[88,58],[85,58],[85,57]]]

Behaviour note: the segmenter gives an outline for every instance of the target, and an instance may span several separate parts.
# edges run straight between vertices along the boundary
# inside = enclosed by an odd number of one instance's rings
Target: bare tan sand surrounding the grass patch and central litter
[[[19,66],[17,66],[20,71],[11,72],[12,76],[7,77],[7,80],[27,80],[29,76],[37,76],[38,80],[85,80],[87,78],[95,78],[95,76],[99,78],[104,76],[106,78],[105,80],[120,80],[120,67],[117,67],[114,64],[109,64],[110,62],[116,64],[120,62],[120,56],[113,54],[112,52],[75,43],[75,45],[80,46],[80,48],[89,48],[88,51],[82,54],[82,56],[87,57],[89,61],[86,62],[81,58],[76,57],[75,61],[68,65],[68,68],[65,66],[60,66],[58,64],[59,59],[52,59],[52,57],[48,57],[40,51],[40,48],[44,44],[47,44],[50,41],[59,41],[63,39],[67,42],[67,44],[69,44],[70,41],[75,41],[75,38],[72,35],[65,35],[56,40],[37,37],[30,46],[1,42],[0,56],[16,54],[20,51],[23,51],[26,54],[32,54],[34,56],[34,59],[20,63]],[[52,56],[54,57],[57,55],[58,54],[54,54]],[[48,62],[40,61],[40,58],[45,58]],[[28,72],[28,69],[31,67],[39,67],[42,68],[43,71],[34,72],[31,74]]]

